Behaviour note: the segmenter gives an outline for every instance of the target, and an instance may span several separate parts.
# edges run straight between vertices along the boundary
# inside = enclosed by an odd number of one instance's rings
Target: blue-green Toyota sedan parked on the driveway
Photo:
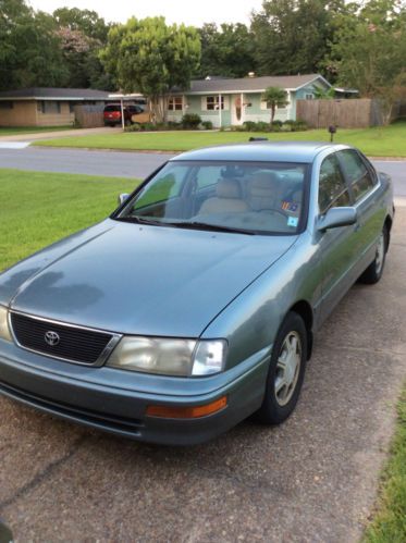
[[[180,155],[0,275],[0,392],[164,444],[281,423],[315,333],[380,280],[393,217],[390,177],[348,146]]]

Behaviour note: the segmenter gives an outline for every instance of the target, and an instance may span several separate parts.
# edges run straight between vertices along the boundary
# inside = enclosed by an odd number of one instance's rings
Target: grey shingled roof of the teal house
[[[280,87],[295,90],[305,85],[321,78],[328,85],[329,83],[320,74],[306,75],[267,75],[263,77],[242,77],[237,79],[201,79],[193,81],[187,94],[208,94],[208,92],[262,92],[268,87]],[[180,89],[176,89],[181,92]]]

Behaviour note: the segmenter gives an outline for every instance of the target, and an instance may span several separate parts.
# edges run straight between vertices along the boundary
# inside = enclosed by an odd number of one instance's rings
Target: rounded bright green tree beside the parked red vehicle
[[[149,100],[153,121],[163,121],[173,87],[187,89],[200,60],[197,30],[165,24],[164,17],[130,18],[109,32],[100,58],[122,90]]]

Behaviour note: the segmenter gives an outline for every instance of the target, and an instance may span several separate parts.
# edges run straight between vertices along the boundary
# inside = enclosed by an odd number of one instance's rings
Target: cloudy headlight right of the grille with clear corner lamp
[[[162,375],[209,375],[224,368],[226,342],[126,336],[107,366]]]

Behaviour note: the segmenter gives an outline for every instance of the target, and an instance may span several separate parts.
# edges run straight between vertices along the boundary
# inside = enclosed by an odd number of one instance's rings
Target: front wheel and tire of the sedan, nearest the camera
[[[291,356],[290,348],[293,349]],[[263,403],[256,414],[257,419],[263,424],[280,424],[295,409],[305,378],[307,348],[307,330],[304,320],[299,314],[291,311],[276,334]],[[286,359],[291,363],[283,368],[283,361]]]

